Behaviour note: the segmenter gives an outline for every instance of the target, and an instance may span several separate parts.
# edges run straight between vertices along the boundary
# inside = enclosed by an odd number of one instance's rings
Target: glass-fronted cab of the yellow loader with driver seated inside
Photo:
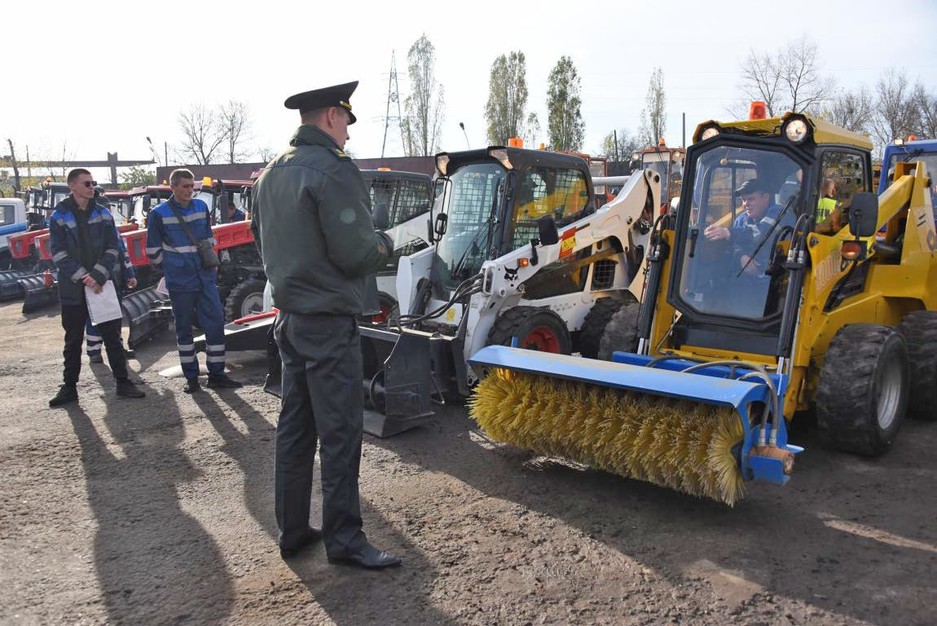
[[[784,119],[794,118],[802,116]],[[843,205],[871,190],[865,140],[818,143],[825,126],[809,121],[798,124],[806,129],[800,135],[791,130],[792,140],[779,122],[714,124],[708,135],[701,127],[687,152],[667,293],[679,314],[674,347],[775,354],[783,318],[796,315],[799,299],[788,289],[786,253],[798,233],[821,232],[822,181],[841,176]]]

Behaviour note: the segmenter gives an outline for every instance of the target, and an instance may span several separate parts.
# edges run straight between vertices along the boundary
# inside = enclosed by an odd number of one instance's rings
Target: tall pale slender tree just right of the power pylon
[[[404,102],[407,114],[401,124],[404,148],[407,156],[430,156],[436,152],[445,101],[434,74],[436,51],[425,34],[410,46],[407,61],[410,95]]]

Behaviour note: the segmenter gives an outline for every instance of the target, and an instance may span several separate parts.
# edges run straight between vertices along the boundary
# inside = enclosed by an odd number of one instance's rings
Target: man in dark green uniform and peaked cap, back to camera
[[[283,363],[276,438],[275,501],[280,555],[321,536],[329,561],[400,565],[361,530],[358,466],[364,406],[356,316],[374,272],[393,252],[375,231],[361,172],[342,149],[355,122],[357,82],[287,98],[302,126],[254,184],[251,227],[273,300]],[[309,526],[316,441],[321,450],[322,530]]]

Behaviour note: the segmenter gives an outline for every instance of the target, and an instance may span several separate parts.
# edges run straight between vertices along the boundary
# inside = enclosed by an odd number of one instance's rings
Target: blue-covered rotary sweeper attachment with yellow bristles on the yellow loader
[[[788,445],[783,418],[763,422],[765,410],[783,415],[785,378],[742,364],[505,346],[469,363],[488,370],[470,412],[494,439],[729,505],[746,481],[786,483],[803,450]]]

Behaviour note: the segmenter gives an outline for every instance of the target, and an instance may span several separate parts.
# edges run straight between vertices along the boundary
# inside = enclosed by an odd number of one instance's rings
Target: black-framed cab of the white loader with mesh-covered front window
[[[594,210],[588,164],[574,155],[492,146],[436,156],[445,214],[433,282],[453,289],[482,263],[536,239],[538,222],[562,227]]]

